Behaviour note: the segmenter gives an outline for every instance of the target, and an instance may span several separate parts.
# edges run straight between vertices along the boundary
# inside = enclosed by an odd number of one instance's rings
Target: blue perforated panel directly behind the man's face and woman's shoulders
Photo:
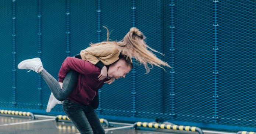
[[[113,8],[113,3],[115,6]],[[110,30],[110,39],[120,41],[131,28],[131,2],[130,1],[100,1],[100,19],[102,26]],[[101,40],[106,40],[106,30],[101,32]],[[101,115],[125,116],[132,115],[131,74],[125,79],[116,80],[111,85],[105,85],[100,90]]]

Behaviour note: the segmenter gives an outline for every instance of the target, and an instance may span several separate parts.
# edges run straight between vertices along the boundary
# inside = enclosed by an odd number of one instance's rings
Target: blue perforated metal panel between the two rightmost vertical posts
[[[204,7],[202,9],[202,7]],[[175,1],[175,120],[211,122],[213,116],[213,2]]]

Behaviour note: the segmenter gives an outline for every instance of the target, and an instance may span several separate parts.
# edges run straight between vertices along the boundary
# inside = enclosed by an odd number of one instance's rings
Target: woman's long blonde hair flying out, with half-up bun
[[[146,73],[150,72],[150,69],[153,68],[153,65],[158,66],[162,69],[164,69],[162,66],[167,66],[171,68],[171,66],[168,65],[167,62],[162,61],[161,59],[157,58],[155,54],[153,54],[153,52],[157,52],[164,56],[164,54],[147,46],[146,42],[144,41],[145,38],[146,37],[138,28],[131,28],[130,31],[124,36],[124,39],[122,39],[121,41],[109,41],[109,30],[107,29],[107,41],[96,44],[91,43],[90,46],[97,46],[107,43],[116,44],[119,47],[121,54],[126,55],[129,58],[133,57],[140,64],[143,64],[146,69]],[[147,48],[149,48],[149,50]],[[147,64],[150,64],[151,68],[149,68]]]

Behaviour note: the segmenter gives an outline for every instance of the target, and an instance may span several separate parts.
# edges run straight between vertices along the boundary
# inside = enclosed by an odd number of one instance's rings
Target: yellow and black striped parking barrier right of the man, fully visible
[[[150,127],[150,128],[161,128],[161,129],[171,129],[171,130],[181,130],[181,131],[193,131],[203,134],[203,131],[198,127],[191,126],[178,126],[174,124],[159,124],[159,123],[147,123],[147,122],[136,122],[134,123],[134,128],[137,127]]]

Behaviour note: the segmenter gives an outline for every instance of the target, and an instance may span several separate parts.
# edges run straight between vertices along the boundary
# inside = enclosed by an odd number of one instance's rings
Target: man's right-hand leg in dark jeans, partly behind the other
[[[92,127],[93,134],[105,134],[105,130],[100,124],[99,117],[92,106],[88,106],[88,110],[85,112],[85,115],[90,123],[90,126]]]

